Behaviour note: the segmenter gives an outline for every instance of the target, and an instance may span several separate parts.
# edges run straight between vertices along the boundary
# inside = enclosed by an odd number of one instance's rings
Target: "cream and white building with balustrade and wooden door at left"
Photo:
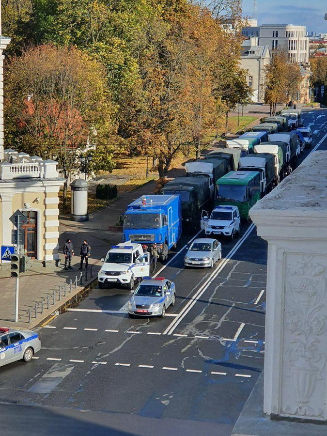
[[[4,150],[2,53],[9,43],[10,38],[0,36],[0,245],[14,245],[12,231],[16,227],[10,218],[17,210],[23,212],[28,222],[22,245],[34,263],[32,269],[38,269],[54,266],[59,259],[58,204],[64,179],[58,174],[56,161]],[[0,260],[1,275],[8,274],[9,269],[10,260]]]

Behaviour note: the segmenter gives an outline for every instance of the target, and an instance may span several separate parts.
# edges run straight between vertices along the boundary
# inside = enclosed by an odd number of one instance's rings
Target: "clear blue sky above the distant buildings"
[[[326,0],[257,0],[259,24],[297,24],[307,31],[327,32]],[[243,15],[252,16],[253,0],[243,0]]]

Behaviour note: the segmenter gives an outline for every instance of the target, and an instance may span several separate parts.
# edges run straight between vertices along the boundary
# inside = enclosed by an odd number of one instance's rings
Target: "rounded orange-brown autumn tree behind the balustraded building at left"
[[[111,169],[112,108],[102,65],[75,47],[45,45],[14,57],[5,77],[8,148],[54,158],[65,179],[88,144],[106,147]],[[64,192],[67,181],[64,186]]]

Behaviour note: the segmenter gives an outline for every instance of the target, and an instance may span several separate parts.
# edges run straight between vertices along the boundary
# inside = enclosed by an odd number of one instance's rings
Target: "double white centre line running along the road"
[[[327,136],[327,134],[326,134]],[[212,272],[210,277],[202,284],[196,294],[187,302],[182,311],[180,311],[178,317],[176,317],[171,324],[166,328],[163,332],[164,335],[171,335],[174,329],[178,326],[178,324],[183,320],[183,318],[187,315],[187,313],[192,309],[195,303],[199,300],[202,294],[207,290],[212,281],[218,276],[220,271],[225,267],[225,265],[231,260],[234,253],[241,247],[243,242],[248,238],[249,234],[254,229],[255,225],[252,223],[245,234],[241,237],[241,239],[235,244],[233,249],[227,254],[226,258],[218,265],[218,267]]]

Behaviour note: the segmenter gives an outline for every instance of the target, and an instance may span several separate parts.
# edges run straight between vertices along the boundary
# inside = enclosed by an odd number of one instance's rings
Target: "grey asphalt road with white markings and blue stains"
[[[327,150],[327,111],[304,124],[313,145],[299,162]],[[264,366],[267,246],[243,224],[213,269],[185,269],[196,236],[158,264],[177,291],[165,318],[128,318],[130,291],[95,288],[39,329],[29,364],[1,367],[1,435],[231,434]]]

